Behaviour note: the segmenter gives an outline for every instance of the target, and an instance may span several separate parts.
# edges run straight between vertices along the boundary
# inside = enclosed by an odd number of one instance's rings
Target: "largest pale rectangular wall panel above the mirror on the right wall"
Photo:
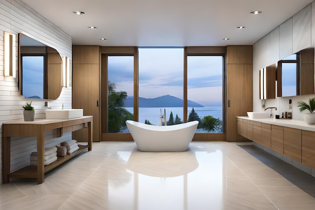
[[[311,46],[311,5],[309,4],[293,16],[293,51],[298,52]]]

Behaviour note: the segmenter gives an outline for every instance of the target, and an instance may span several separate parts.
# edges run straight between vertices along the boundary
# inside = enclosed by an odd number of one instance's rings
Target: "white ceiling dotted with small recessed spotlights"
[[[72,44],[100,46],[252,45],[312,1],[22,0]],[[257,10],[262,13],[250,14]]]

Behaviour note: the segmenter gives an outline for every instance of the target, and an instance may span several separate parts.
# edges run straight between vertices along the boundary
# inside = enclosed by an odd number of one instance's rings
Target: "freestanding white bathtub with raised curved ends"
[[[140,151],[183,152],[194,137],[198,121],[156,126],[127,120],[126,124]]]

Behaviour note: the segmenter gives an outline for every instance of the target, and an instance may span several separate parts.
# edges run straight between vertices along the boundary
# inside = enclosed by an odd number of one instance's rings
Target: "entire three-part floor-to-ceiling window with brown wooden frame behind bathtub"
[[[126,119],[159,126],[195,120],[192,116],[200,121],[195,140],[223,141],[224,54],[225,47],[104,47],[103,141],[132,140]],[[122,103],[112,100],[113,93]]]

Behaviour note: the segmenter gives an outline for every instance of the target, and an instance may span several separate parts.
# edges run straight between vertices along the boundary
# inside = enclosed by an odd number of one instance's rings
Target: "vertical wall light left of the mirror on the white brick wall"
[[[5,41],[5,76],[16,77],[15,34],[4,32]]]

